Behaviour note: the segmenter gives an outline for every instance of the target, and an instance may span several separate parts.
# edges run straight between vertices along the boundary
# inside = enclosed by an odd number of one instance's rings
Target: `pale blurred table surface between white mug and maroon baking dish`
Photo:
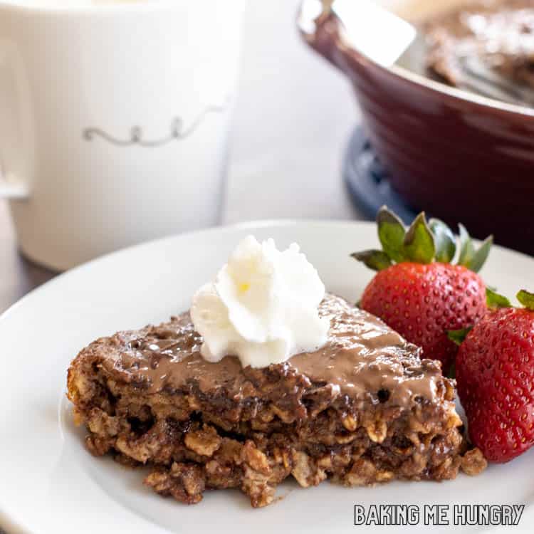
[[[248,0],[224,223],[361,218],[341,163],[359,113],[349,83],[300,40],[298,0]]]

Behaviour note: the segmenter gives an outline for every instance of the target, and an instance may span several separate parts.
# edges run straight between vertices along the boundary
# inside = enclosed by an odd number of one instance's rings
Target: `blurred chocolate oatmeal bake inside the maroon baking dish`
[[[534,1],[474,0],[428,21],[430,75],[511,103],[534,105]]]

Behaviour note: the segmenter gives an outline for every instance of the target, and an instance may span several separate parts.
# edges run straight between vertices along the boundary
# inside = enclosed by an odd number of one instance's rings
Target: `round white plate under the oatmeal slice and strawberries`
[[[114,253],[64,274],[33,291],[0,318],[0,525],[9,534],[212,533],[275,530],[351,532],[354,505],[520,503],[520,527],[534,526],[534,451],[481,476],[444,483],[390,483],[347,489],[330,483],[300,489],[286,483],[285,498],[255,510],[239,491],[207,492],[185,506],[142,486],[142,473],[83,448],[65,398],[70,360],[88,342],[124,328],[166,320],[189,307],[192,293],[209,280],[246,234],[297,241],[328,290],[356,300],[371,273],[349,257],[377,246],[367,223],[279,221],[211,229]],[[533,287],[534,260],[494,248],[486,282],[508,295]],[[452,509],[451,509],[452,514]],[[451,515],[449,516],[451,518]],[[370,527],[374,532],[380,530]],[[419,525],[386,532],[428,530]],[[484,527],[441,527],[469,533]]]

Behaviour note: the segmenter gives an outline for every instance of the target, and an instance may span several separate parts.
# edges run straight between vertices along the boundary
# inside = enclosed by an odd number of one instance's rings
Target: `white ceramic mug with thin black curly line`
[[[0,197],[63,270],[219,222],[244,0],[0,0]]]

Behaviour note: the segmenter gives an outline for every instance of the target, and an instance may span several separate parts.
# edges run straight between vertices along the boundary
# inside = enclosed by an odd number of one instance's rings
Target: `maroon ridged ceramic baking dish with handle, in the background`
[[[534,109],[379,65],[351,45],[348,21],[331,4],[304,0],[300,33],[352,82],[394,189],[449,224],[461,221],[478,237],[494,234],[499,244],[534,253]],[[407,1],[382,4],[405,13]],[[377,28],[377,38],[387,35]]]

